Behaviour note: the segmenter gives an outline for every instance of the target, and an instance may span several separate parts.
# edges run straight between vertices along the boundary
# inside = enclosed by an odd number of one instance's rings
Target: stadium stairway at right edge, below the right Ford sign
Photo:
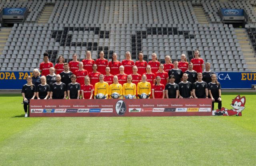
[[[250,45],[250,38],[246,35],[246,30],[244,28],[234,28],[234,31],[236,32],[238,42],[244,54],[248,70],[256,71],[255,53]]]

